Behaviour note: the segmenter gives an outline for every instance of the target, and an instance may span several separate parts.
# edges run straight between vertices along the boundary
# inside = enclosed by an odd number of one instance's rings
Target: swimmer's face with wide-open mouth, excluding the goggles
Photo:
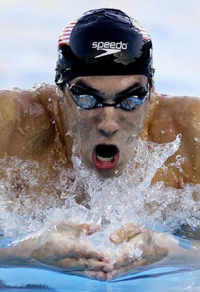
[[[133,96],[147,84],[147,77],[89,76],[69,82],[83,92],[95,94],[104,104],[112,104],[117,98]],[[78,136],[81,158],[87,168],[101,178],[119,175],[129,162],[131,148],[143,130],[148,114],[150,97],[134,110],[126,111],[114,106],[83,109],[77,106],[65,89],[63,109],[68,117],[69,130]]]

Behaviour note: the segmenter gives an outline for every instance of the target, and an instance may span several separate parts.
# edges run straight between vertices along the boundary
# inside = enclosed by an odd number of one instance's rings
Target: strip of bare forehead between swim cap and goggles
[[[114,94],[121,92],[138,83],[138,87],[145,86],[147,77],[144,75],[123,75],[123,76],[84,76],[73,79],[71,84],[85,83],[101,93]]]

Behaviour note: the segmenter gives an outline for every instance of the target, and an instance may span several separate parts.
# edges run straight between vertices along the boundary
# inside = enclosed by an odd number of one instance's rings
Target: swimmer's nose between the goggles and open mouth
[[[116,109],[114,107],[104,107],[102,109],[97,130],[104,136],[113,136],[118,130]]]

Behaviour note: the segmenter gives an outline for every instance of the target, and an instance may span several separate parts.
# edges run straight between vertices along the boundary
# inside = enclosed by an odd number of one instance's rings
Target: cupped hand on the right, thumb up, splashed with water
[[[163,236],[161,233],[139,227],[134,223],[128,223],[114,231],[110,236],[111,242],[123,243],[123,245],[121,254],[114,260],[114,271],[108,273],[108,276],[115,278],[133,268],[162,260],[168,255],[168,249],[160,244]]]

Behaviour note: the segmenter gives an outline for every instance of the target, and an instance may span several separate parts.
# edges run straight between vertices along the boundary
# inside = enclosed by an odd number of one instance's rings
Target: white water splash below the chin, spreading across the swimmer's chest
[[[138,140],[124,172],[106,180],[85,168],[76,156],[77,145],[73,148],[74,169],[55,162],[59,174],[55,178],[43,164],[5,157],[0,161],[0,233],[21,236],[67,219],[101,224],[101,232],[91,237],[93,243],[111,248],[109,234],[127,222],[170,232],[181,225],[200,226],[200,202],[193,200],[194,192],[200,194],[200,185],[178,190],[163,182],[151,185],[157,169],[166,168],[163,163],[180,143],[181,135],[166,144]],[[173,166],[182,170],[183,162],[184,158],[176,156]],[[77,196],[83,192],[86,199],[77,204]]]

